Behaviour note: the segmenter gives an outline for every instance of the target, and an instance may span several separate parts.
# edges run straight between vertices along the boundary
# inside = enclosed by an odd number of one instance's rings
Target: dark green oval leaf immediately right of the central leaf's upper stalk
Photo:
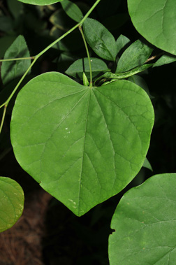
[[[115,61],[117,45],[114,36],[103,24],[92,18],[87,18],[83,23],[87,43],[96,55],[109,61]]]

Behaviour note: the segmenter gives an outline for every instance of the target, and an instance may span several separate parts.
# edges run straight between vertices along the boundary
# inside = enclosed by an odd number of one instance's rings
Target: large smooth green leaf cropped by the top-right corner
[[[135,29],[156,47],[176,55],[175,0],[128,0]]]

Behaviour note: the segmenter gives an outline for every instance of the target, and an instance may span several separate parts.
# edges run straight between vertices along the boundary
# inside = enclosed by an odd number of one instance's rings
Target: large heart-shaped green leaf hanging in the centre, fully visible
[[[22,168],[83,215],[135,177],[153,123],[149,97],[129,81],[85,87],[50,72],[17,95],[10,136]]]

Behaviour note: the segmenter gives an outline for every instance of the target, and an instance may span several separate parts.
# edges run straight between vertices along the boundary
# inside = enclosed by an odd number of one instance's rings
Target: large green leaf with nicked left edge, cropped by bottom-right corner
[[[176,174],[153,176],[122,197],[109,238],[110,265],[175,264]]]

